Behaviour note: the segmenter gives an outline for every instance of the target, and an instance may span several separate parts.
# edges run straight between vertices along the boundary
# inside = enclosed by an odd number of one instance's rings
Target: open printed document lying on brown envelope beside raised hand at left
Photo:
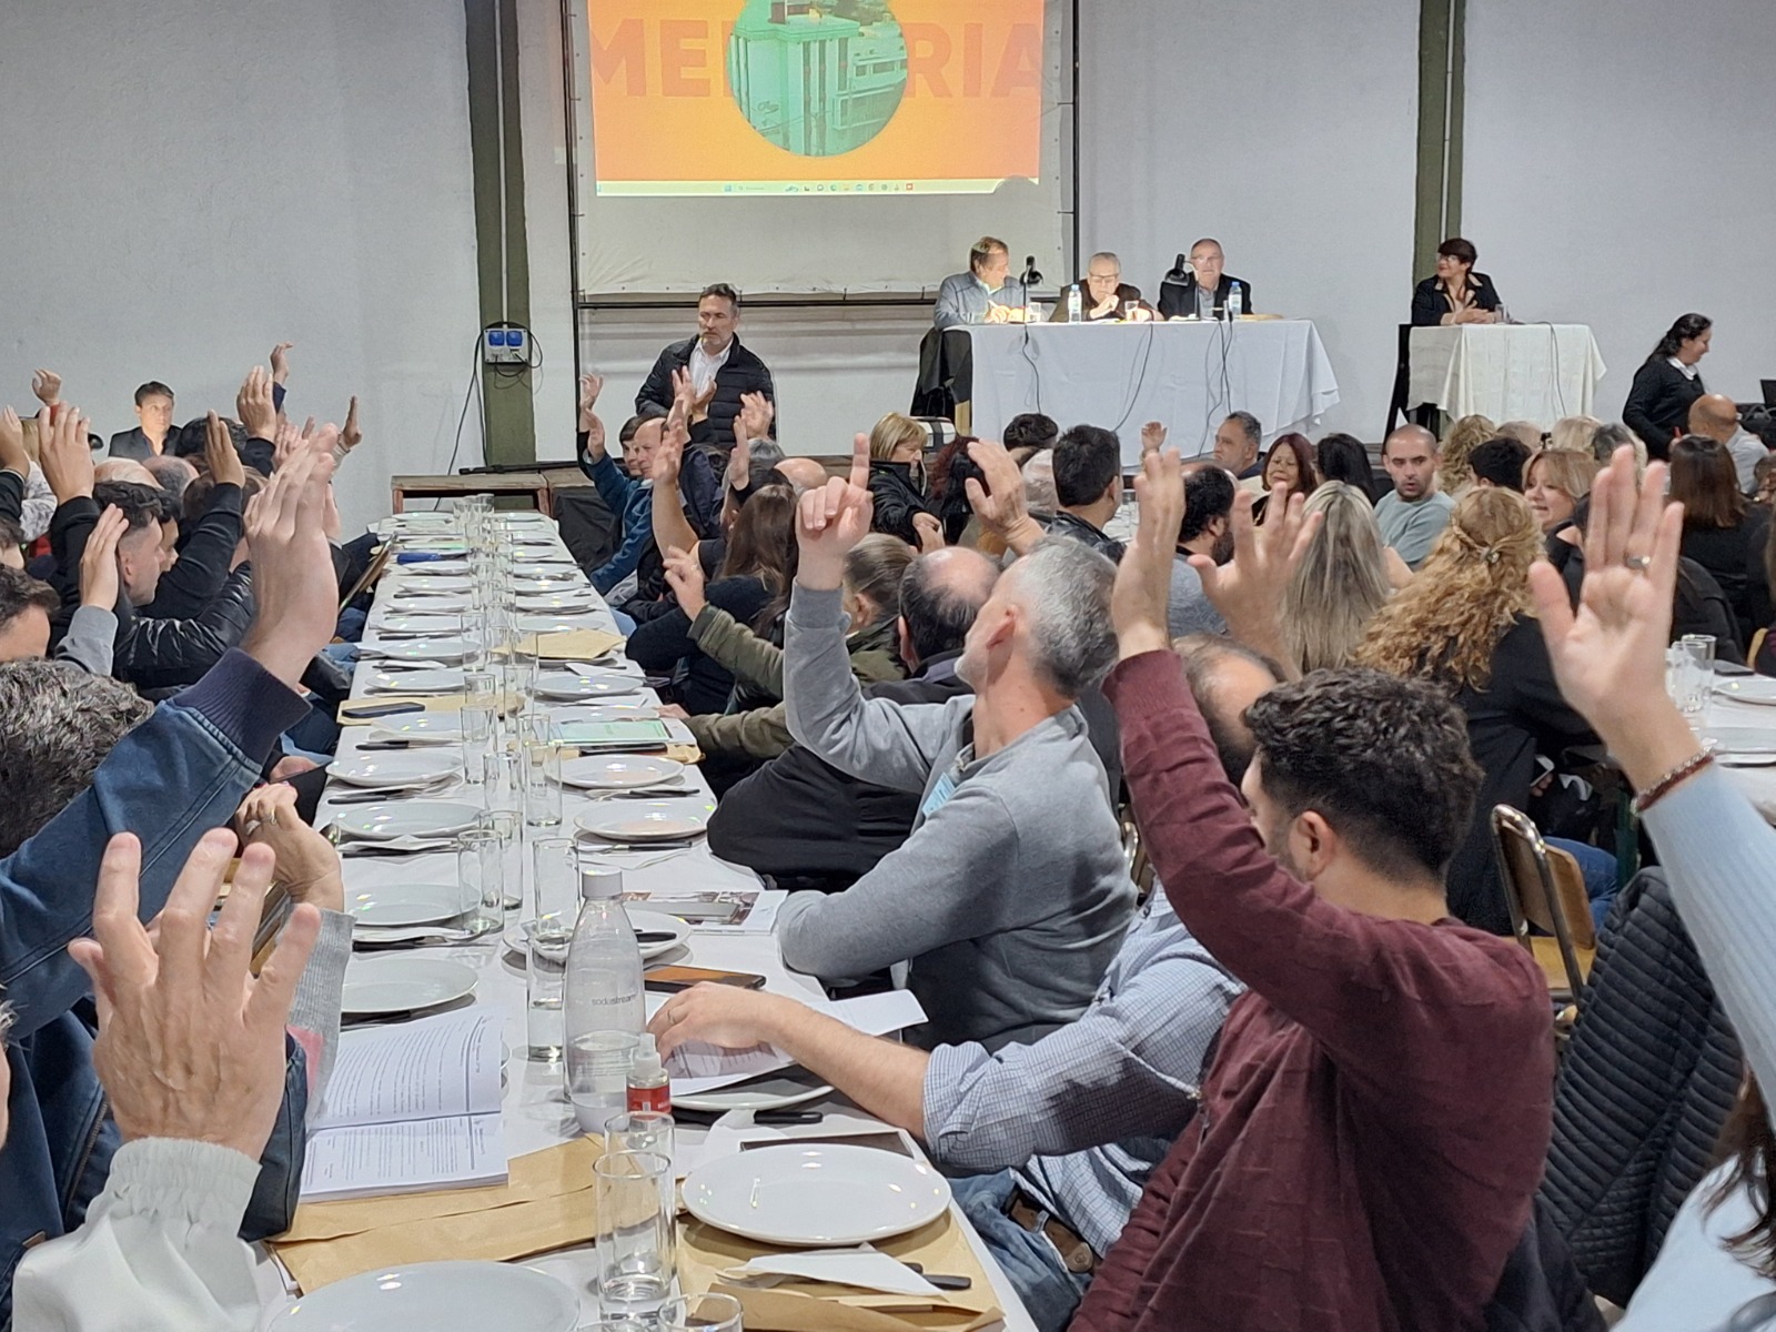
[[[302,1197],[504,1183],[503,1028],[499,1009],[464,1009],[341,1034]]]

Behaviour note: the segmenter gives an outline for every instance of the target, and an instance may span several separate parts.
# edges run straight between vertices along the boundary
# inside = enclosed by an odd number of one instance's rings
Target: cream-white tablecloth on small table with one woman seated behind
[[[1407,403],[1497,423],[1591,416],[1604,357],[1582,323],[1460,323],[1412,330]]]

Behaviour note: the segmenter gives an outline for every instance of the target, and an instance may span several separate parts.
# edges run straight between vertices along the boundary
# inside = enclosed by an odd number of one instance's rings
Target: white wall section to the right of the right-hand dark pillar
[[[1620,417],[1684,311],[1710,389],[1776,377],[1776,4],[1469,0],[1462,229],[1524,320],[1590,323]],[[1575,55],[1582,53],[1582,60]]]

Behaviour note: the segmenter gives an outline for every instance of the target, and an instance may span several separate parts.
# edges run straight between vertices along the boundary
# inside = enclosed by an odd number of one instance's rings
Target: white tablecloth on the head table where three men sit
[[[1213,448],[1227,412],[1256,416],[1268,442],[1337,401],[1311,320],[975,325],[968,336],[982,439],[998,439],[1019,412],[1044,412],[1062,430],[1115,430],[1122,462],[1135,464],[1140,428],[1160,421],[1188,458]]]

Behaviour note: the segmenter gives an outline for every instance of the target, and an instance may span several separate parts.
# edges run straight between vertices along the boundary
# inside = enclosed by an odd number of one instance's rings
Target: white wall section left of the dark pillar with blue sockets
[[[289,339],[298,419],[362,398],[348,524],[442,471],[480,329],[464,32],[432,0],[9,4],[0,401],[52,366],[105,433],[146,378],[233,414]]]

